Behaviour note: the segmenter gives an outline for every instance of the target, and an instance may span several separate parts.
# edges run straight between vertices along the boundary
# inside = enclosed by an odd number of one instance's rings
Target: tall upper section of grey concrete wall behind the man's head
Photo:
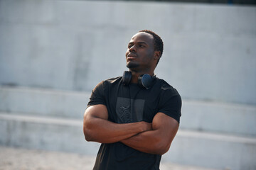
[[[125,1],[0,1],[0,84],[91,91],[126,70],[127,42],[164,40],[158,77],[182,98],[256,104],[256,8]]]

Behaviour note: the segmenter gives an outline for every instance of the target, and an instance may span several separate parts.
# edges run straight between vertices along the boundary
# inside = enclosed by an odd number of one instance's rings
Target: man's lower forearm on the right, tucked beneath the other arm
[[[121,141],[124,145],[149,154],[164,154],[169,150],[169,142],[164,142],[158,130],[139,133]]]

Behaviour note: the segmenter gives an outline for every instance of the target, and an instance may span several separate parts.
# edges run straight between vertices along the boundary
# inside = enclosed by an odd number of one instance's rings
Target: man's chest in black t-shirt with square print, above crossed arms
[[[114,123],[152,122],[158,111],[159,96],[150,89],[130,84],[111,91],[108,101],[109,118]]]

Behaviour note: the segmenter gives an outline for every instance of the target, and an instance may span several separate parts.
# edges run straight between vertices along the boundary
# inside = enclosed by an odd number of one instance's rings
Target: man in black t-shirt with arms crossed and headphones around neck
[[[92,91],[84,115],[87,141],[100,142],[94,169],[159,169],[178,130],[181,96],[154,69],[163,42],[151,30],[129,41],[129,72],[107,79]]]

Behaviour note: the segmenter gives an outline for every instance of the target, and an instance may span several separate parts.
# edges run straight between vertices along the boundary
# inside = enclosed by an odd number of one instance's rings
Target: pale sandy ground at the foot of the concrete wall
[[[95,157],[0,146],[0,170],[92,170]],[[161,170],[217,170],[161,162]]]

